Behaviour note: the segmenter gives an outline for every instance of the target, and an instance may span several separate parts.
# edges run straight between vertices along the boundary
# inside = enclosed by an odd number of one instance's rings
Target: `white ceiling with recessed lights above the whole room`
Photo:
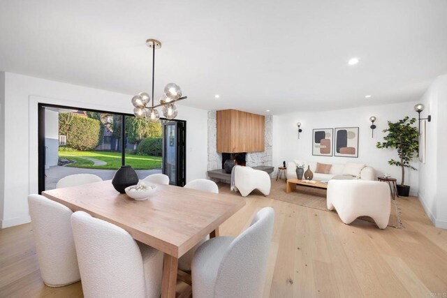
[[[3,71],[149,92],[147,38],[162,43],[156,98],[175,82],[182,105],[281,114],[403,102],[447,73],[447,1],[0,1]]]

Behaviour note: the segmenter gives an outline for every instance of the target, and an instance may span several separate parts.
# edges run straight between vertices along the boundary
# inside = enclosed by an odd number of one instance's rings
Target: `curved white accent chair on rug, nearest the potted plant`
[[[390,220],[391,198],[388,184],[368,180],[330,180],[327,204],[337,210],[340,219],[352,223],[359,216],[369,216],[384,229]]]

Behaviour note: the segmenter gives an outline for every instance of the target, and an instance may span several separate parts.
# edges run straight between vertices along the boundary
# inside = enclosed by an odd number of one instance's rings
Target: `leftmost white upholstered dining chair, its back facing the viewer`
[[[43,283],[61,287],[80,281],[71,232],[73,211],[42,195],[29,195],[28,204]]]

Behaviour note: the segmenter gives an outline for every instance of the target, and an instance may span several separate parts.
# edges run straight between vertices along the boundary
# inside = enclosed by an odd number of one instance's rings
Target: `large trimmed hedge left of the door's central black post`
[[[67,147],[89,151],[98,146],[101,122],[75,114],[59,114],[59,135],[67,136]]]

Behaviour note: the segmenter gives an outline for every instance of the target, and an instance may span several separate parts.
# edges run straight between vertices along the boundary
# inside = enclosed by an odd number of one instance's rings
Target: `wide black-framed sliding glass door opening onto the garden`
[[[96,174],[112,179],[122,163],[131,165],[140,179],[162,172],[164,129],[130,114],[88,110],[82,107],[38,105],[38,191],[56,187],[71,174]],[[166,164],[171,184],[184,185],[184,121],[171,133],[174,163]],[[182,146],[179,146],[183,144]],[[166,151],[166,154],[170,151]],[[169,161],[172,161],[170,157]],[[171,178],[172,177],[172,178]]]

